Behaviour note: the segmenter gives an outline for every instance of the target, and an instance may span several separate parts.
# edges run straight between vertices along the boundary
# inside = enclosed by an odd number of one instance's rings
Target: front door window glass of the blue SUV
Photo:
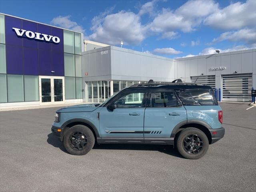
[[[118,108],[140,108],[145,93],[130,93],[115,101]]]

